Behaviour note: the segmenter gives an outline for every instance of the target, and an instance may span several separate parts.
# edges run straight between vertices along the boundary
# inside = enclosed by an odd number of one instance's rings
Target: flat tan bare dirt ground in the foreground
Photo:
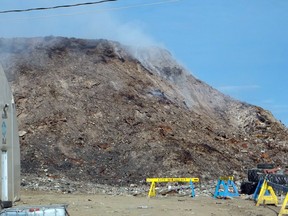
[[[87,215],[165,215],[165,216],[275,216],[280,207],[256,207],[251,200],[235,198],[220,200],[207,196],[181,197],[176,195],[155,198],[146,196],[112,196],[104,194],[61,194],[39,191],[22,191],[22,205],[68,204],[71,216]]]

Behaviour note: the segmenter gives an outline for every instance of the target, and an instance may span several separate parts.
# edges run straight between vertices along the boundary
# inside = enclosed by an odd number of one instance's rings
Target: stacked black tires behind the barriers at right
[[[248,181],[241,183],[241,193],[253,194],[259,180],[266,178],[270,182],[279,185],[288,185],[288,175],[283,173],[266,174],[265,170],[274,169],[274,164],[258,164],[257,168],[248,170]]]

